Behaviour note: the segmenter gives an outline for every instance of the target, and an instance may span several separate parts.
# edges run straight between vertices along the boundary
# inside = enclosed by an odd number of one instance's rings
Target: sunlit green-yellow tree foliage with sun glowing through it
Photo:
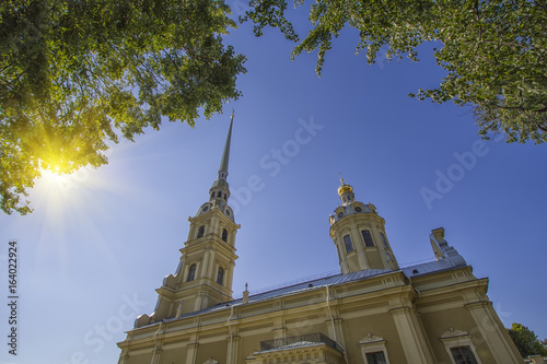
[[[1,1],[1,209],[31,211],[40,168],[100,166],[118,133],[162,116],[193,126],[237,98],[229,13],[222,0]]]

